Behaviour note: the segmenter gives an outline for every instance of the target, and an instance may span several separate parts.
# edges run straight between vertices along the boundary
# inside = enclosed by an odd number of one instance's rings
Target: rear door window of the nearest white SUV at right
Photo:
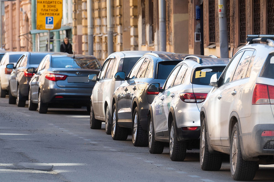
[[[244,54],[241,57],[238,63],[238,66],[236,68],[232,81],[245,78],[245,74],[248,69],[248,65],[249,65],[249,61],[251,59],[252,53],[253,51],[244,51]]]

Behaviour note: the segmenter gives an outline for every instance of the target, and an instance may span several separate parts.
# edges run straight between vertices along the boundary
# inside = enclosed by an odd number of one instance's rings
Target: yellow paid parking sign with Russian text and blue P
[[[63,14],[63,0],[37,0],[38,30],[60,29]]]

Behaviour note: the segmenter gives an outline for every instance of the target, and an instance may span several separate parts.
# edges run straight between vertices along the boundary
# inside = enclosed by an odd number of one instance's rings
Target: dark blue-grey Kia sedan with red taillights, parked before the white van
[[[94,56],[47,55],[30,80],[29,110],[47,113],[47,108],[60,105],[86,106],[89,111],[90,93],[95,85],[88,80],[90,73],[99,74],[101,65]]]

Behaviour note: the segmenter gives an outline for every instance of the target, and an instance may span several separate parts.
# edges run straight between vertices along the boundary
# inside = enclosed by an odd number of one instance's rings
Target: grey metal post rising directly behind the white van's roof
[[[113,27],[111,0],[107,0],[107,54],[113,53]]]

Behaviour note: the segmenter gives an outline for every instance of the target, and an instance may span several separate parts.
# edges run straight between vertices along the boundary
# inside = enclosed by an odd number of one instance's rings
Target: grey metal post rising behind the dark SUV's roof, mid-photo
[[[167,51],[166,1],[159,0],[159,51]]]

